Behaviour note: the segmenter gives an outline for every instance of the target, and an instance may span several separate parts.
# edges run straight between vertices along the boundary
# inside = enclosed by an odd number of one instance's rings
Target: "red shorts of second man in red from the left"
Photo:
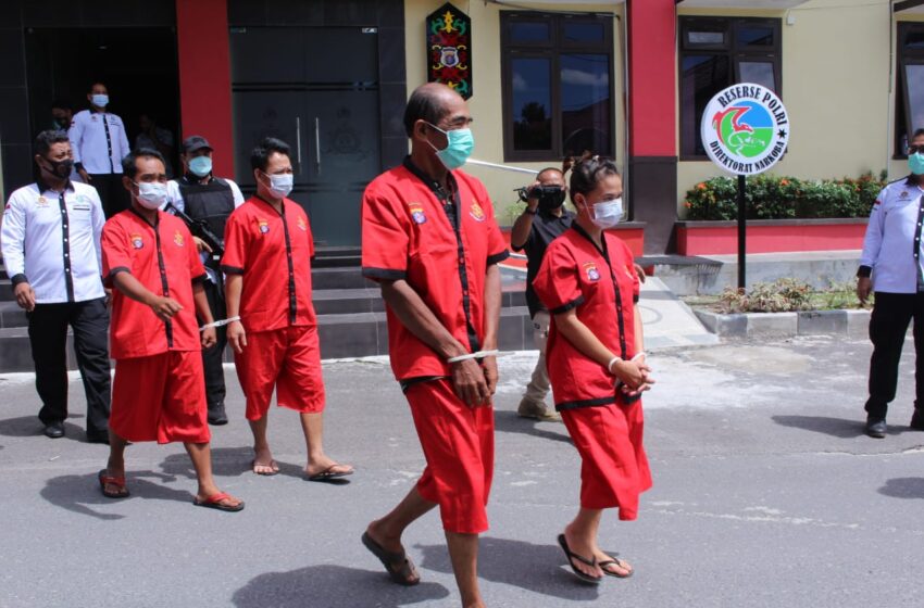
[[[247,419],[260,420],[270,410],[273,389],[276,403],[303,414],[324,410],[324,379],[317,328],[287,327],[247,333],[247,346],[235,353],[235,368]]]

